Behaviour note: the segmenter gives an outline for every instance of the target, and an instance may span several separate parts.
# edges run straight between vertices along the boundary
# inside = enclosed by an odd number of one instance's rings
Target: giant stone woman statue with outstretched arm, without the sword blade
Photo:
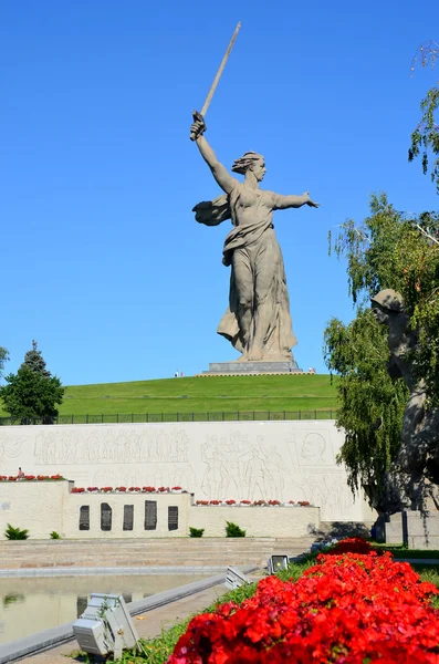
[[[239,361],[292,361],[296,340],[292,330],[285,270],[274,227],[273,210],[318,207],[306,191],[281,196],[259,188],[265,175],[262,155],[245,153],[233,163],[232,172],[244,176],[241,183],[220,164],[206,141],[206,125],[199,113],[190,127],[201,156],[224,195],[195,206],[196,220],[217,226],[231,219],[234,226],[226,238],[224,266],[231,266],[229,308],[218,333],[242,353]]]

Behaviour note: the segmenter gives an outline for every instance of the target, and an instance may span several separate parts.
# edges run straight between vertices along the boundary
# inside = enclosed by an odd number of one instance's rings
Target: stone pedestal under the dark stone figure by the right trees
[[[388,517],[385,523],[387,544],[405,544],[409,549],[439,549],[439,512],[404,510]]]

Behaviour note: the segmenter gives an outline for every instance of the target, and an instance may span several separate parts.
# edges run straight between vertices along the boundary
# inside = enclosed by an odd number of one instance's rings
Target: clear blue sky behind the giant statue
[[[322,204],[274,218],[300,366],[325,371],[326,322],[354,315],[328,230],[360,221],[372,191],[401,210],[437,207],[407,148],[439,76],[410,77],[419,43],[439,39],[439,4],[3,0],[8,370],[32,339],[64,384],[190,375],[237,357],[216,334],[230,227],[194,220],[192,206],[219,191],[188,135],[239,20],[206,136],[227,166],[262,153],[264,188]]]

